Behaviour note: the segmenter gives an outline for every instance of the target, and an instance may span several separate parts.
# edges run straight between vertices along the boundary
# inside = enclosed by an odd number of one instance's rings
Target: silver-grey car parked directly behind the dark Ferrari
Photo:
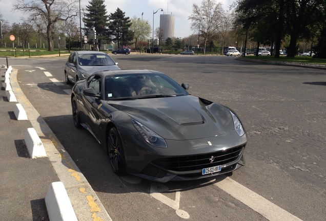
[[[95,51],[75,51],[66,61],[65,80],[67,84],[76,83],[78,80],[87,79],[94,72],[107,70],[120,70],[118,63],[108,54]]]

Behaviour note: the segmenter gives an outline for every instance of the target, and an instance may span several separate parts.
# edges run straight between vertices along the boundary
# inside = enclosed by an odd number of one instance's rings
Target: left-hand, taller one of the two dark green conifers
[[[86,29],[95,28],[96,38],[99,41],[107,39],[106,32],[109,26],[109,15],[105,8],[104,0],[91,0],[89,5],[86,6],[88,13],[85,13],[83,21]]]

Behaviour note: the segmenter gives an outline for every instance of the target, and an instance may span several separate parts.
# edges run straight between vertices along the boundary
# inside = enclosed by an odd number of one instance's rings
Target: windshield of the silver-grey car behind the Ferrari
[[[80,66],[115,65],[115,62],[107,54],[79,54],[78,61]]]

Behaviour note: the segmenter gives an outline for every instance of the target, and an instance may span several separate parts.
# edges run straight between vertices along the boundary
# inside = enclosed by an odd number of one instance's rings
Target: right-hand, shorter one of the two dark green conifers
[[[118,43],[118,48],[120,45],[131,45],[134,32],[129,29],[132,23],[129,17],[125,17],[125,12],[117,8],[109,15],[109,20],[109,35],[112,41]]]

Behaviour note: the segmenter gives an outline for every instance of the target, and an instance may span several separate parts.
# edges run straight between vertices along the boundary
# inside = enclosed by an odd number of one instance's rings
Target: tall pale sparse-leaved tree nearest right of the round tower
[[[202,0],[200,7],[193,4],[192,8],[192,14],[188,19],[191,20],[192,30],[199,32],[198,35],[204,38],[203,53],[205,54],[207,40],[215,34],[215,30],[221,24],[222,5],[215,0]]]

